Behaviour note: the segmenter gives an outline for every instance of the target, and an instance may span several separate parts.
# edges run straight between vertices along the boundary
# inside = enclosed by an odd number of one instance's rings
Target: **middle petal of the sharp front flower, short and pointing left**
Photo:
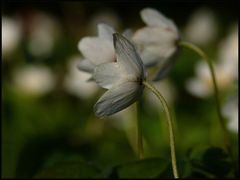
[[[124,81],[124,71],[118,63],[104,63],[97,66],[93,73],[96,83],[103,88],[110,89],[112,86]]]

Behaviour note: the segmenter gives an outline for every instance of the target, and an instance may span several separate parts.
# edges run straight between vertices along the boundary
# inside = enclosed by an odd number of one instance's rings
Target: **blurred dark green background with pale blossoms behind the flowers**
[[[215,3],[32,2],[2,6],[2,177],[33,177],[58,161],[81,161],[103,170],[137,159],[134,106],[107,119],[93,114],[104,92],[76,63],[78,42],[104,22],[122,32],[144,26],[140,10],[172,19],[183,40],[214,61],[222,111],[238,159],[238,16],[231,1]],[[222,147],[205,62],[181,49],[169,76],[155,83],[174,114],[177,157],[196,148]],[[141,98],[145,157],[169,157],[161,105]],[[91,174],[91,173],[90,173]]]

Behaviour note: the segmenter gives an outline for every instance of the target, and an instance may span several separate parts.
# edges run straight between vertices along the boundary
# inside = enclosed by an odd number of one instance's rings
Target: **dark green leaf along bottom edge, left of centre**
[[[89,163],[58,162],[42,170],[34,178],[92,178],[100,171]]]

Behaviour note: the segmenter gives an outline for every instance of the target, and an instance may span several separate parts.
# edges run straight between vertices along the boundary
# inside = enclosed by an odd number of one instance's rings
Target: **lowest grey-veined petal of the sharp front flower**
[[[123,110],[142,94],[144,86],[134,82],[118,84],[108,90],[94,106],[98,117],[105,117]]]

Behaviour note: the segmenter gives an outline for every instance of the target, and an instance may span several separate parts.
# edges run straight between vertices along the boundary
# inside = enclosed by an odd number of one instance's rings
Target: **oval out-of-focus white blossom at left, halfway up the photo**
[[[43,95],[55,86],[51,70],[43,65],[26,65],[13,72],[13,83],[17,90],[27,95]]]

